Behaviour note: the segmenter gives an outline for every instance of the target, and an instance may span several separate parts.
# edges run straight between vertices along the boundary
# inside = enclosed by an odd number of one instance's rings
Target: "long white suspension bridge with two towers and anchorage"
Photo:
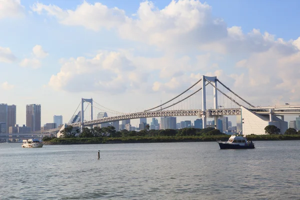
[[[222,101],[222,105],[218,104],[220,101]],[[99,116],[103,113],[107,115]],[[243,134],[257,134],[258,132],[263,133],[263,128],[268,124],[274,124],[284,132],[287,129],[284,115],[299,114],[300,106],[254,106],[223,84],[216,76],[202,75],[199,80],[180,94],[139,112],[119,112],[95,102],[92,98],[81,98],[71,119],[65,125],[82,128],[84,126],[144,117],[197,116],[202,119],[202,128],[205,128],[207,118],[214,118],[214,127],[217,127],[219,116],[241,115]],[[31,133],[49,134],[58,131],[59,128],[54,128]]]

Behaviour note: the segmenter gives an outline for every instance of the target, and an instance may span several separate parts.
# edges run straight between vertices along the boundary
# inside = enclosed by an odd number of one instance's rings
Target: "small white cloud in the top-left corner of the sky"
[[[22,16],[23,11],[20,0],[0,0],[0,19]]]

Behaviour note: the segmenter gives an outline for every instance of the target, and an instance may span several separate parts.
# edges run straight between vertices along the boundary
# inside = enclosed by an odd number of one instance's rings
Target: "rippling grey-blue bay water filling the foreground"
[[[299,199],[300,141],[0,143],[1,199]],[[97,151],[100,150],[100,159]]]

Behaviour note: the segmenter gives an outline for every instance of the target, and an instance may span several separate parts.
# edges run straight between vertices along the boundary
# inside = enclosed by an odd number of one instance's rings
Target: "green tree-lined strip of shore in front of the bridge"
[[[268,128],[266,128],[268,129]],[[267,130],[266,132],[267,133]],[[227,141],[230,135],[221,133],[213,127],[207,128],[182,128],[165,130],[140,130],[115,131],[113,126],[73,129],[66,127],[62,136],[44,137],[45,144],[100,144],[100,143],[151,143],[151,142],[198,142],[198,141]],[[285,134],[267,133],[263,135],[246,135],[248,140],[300,140],[300,134],[296,131],[285,131]]]

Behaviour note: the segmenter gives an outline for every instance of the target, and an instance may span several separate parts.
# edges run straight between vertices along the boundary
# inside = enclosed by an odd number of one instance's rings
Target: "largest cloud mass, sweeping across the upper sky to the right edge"
[[[255,28],[244,32],[240,26],[227,27],[225,21],[212,16],[211,6],[199,0],[172,0],[163,9],[151,1],[143,1],[134,16],[116,7],[86,1],[73,10],[42,3],[35,3],[32,10],[54,16],[65,25],[79,25],[93,31],[112,29],[122,38],[153,45],[163,52],[155,58],[121,58],[113,52],[92,59],[70,59],[51,77],[49,85],[55,88],[67,89],[72,84],[80,88],[82,84],[76,82],[79,77],[86,78],[86,84],[93,89],[129,88],[126,81],[130,78],[138,81],[136,74],[144,69],[156,75],[150,75],[153,91],[179,90],[191,82],[191,75],[205,73],[223,77],[223,82],[237,92],[257,94],[253,96],[256,99],[286,95],[300,100],[296,95],[300,88],[299,38],[285,41]],[[217,59],[219,56],[224,59]],[[137,68],[124,73],[126,67],[120,66],[128,63]],[[103,74],[108,75],[102,77]]]

